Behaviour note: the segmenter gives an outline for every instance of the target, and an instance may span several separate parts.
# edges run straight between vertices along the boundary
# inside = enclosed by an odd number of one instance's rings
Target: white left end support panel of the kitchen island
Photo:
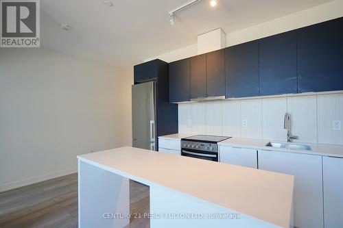
[[[129,179],[78,161],[79,228],[126,227],[130,218]]]

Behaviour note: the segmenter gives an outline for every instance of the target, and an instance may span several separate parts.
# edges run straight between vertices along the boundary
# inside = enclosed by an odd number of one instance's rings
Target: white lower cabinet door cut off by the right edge
[[[322,157],[324,227],[343,227],[343,158]]]

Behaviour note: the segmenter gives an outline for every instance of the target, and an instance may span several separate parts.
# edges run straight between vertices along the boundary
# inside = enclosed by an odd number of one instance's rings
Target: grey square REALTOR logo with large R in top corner
[[[0,1],[0,47],[40,47],[40,1]]]

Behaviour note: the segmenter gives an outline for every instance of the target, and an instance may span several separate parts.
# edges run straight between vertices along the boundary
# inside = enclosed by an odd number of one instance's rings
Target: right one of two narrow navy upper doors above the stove
[[[206,54],[207,97],[225,96],[225,53],[224,49]]]

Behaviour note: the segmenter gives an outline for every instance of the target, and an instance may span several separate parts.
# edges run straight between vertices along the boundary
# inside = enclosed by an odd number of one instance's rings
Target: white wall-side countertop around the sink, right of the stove
[[[265,147],[268,142],[281,142],[276,140],[259,140],[251,138],[229,138],[218,144],[222,146],[233,146],[233,147],[244,147],[252,149],[263,149],[268,151],[283,151],[291,153],[305,153],[311,155],[323,155],[323,156],[333,156],[333,157],[343,157],[343,146],[331,145],[331,144],[314,144],[306,142],[289,142],[293,144],[304,144],[311,147],[311,151],[298,150],[298,149],[285,149],[285,148],[275,148],[275,147]]]

